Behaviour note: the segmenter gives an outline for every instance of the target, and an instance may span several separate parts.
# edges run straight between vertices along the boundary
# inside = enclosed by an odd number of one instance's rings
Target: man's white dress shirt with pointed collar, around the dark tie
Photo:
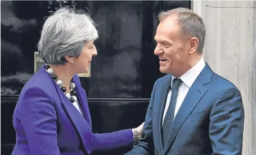
[[[190,87],[192,86],[192,84],[194,83],[196,78],[199,76],[201,71],[203,71],[204,67],[205,67],[205,62],[204,62],[203,57],[201,57],[199,62],[197,62],[196,65],[194,65],[194,67],[192,67],[190,70],[188,70],[186,73],[184,73],[181,77],[179,77],[182,80],[182,83],[179,86],[179,90],[178,90],[178,96],[177,96],[176,106],[175,106],[175,111],[174,111],[174,118],[175,118],[177,112],[179,111],[179,107],[181,107],[182,102],[183,102],[184,98],[186,97],[188,90],[190,89]],[[170,82],[171,87],[172,87],[174,78],[176,78],[176,77],[172,76],[172,81]],[[172,89],[170,89],[168,96],[167,96],[162,125],[164,123],[164,117],[166,115],[166,112],[167,112],[169,104],[170,104],[171,95],[172,95]]]

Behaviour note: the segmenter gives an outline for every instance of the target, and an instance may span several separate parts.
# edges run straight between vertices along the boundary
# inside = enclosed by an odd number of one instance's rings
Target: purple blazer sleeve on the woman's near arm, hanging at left
[[[59,155],[57,116],[52,99],[39,87],[31,87],[22,95],[20,121],[28,139],[30,153]]]

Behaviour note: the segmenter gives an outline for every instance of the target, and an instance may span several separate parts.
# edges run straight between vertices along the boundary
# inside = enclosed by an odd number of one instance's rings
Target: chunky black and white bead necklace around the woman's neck
[[[64,92],[64,94],[66,95],[66,97],[69,98],[69,101],[71,101],[72,103],[77,101],[77,92],[75,92],[75,83],[71,82],[69,85],[70,88],[70,93],[66,93],[66,87],[63,87],[63,82],[61,81],[61,79],[57,79],[58,77],[53,74],[54,70],[52,68],[50,68],[50,65],[46,64],[44,65],[44,69],[46,69],[46,71],[51,74],[51,77],[56,81],[57,85],[60,87],[61,91]]]

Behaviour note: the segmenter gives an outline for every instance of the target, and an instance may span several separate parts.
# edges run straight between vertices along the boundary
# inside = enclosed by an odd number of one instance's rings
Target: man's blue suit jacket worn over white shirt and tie
[[[240,91],[208,64],[190,87],[163,146],[161,122],[171,79],[167,75],[155,82],[143,137],[126,155],[241,155],[244,107]]]

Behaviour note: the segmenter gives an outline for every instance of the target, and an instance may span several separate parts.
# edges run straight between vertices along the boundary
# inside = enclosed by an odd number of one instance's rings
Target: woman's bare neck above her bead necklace
[[[63,82],[63,87],[66,87],[66,93],[70,93],[70,82],[74,74],[71,72],[71,68],[68,65],[50,65],[54,70],[54,73],[57,76],[57,79],[60,79]]]

